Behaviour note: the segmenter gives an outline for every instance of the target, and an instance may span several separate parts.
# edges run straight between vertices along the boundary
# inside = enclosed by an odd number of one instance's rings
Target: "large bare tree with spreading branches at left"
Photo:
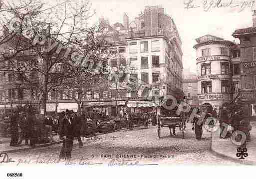
[[[8,61],[26,84],[40,92],[45,113],[48,92],[61,86],[64,79],[87,69],[84,61],[88,61],[88,56],[91,61],[97,56],[97,51],[92,50],[94,37],[90,36],[95,26],[88,27],[94,11],[88,0],[60,0],[53,5],[43,0],[18,2],[19,5],[16,0],[5,3],[7,10],[0,12],[4,14],[1,20],[5,28],[0,44],[8,43],[13,48],[2,60]],[[9,40],[3,40],[6,37]],[[20,56],[25,57],[22,65],[17,63]]]

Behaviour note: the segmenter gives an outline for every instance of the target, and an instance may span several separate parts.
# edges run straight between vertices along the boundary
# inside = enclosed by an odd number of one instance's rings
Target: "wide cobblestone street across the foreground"
[[[132,160],[139,164],[159,164],[159,165],[177,165],[177,164],[199,164],[199,165],[238,165],[234,162],[224,160],[211,153],[211,133],[204,130],[203,140],[197,141],[191,124],[187,125],[185,139],[182,139],[182,133],[177,129],[176,136],[170,137],[167,127],[161,128],[161,139],[157,137],[157,128],[149,126],[148,129],[136,127],[134,130],[125,129],[114,133],[97,136],[95,140],[84,141],[84,146],[78,148],[77,140],[73,147],[72,163],[79,164],[80,159],[93,163],[102,163],[109,165],[113,159],[117,161]],[[29,164],[52,163],[58,159],[61,145],[51,147],[32,149],[23,153],[11,153],[9,157],[16,161],[14,164],[25,165],[31,159]],[[93,158],[92,158],[93,155]],[[103,155],[103,156],[102,156]],[[114,155],[112,158],[109,155]],[[116,155],[132,155],[133,158]],[[134,156],[136,158],[134,158]],[[39,158],[38,158],[39,157]],[[55,160],[55,161],[56,161]],[[135,162],[134,162],[135,163]],[[60,162],[59,164],[65,164]]]

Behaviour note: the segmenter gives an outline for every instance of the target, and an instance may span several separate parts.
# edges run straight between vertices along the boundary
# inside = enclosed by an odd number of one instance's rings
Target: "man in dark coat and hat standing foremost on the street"
[[[63,140],[59,158],[70,160],[75,137],[75,121],[71,118],[69,110],[66,110],[65,117],[60,122],[59,137]]]

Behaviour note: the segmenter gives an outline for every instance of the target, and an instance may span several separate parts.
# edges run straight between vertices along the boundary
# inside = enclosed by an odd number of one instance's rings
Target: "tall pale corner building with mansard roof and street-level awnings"
[[[169,94],[183,98],[182,43],[173,18],[164,13],[164,8],[146,6],[144,13],[131,22],[124,13],[123,24],[117,22],[111,26],[104,18],[100,18],[100,24],[110,44],[110,52],[113,53],[108,62],[110,68],[117,71],[125,67],[126,80],[133,76],[150,86],[143,91],[129,91],[122,82],[110,82],[100,99],[109,102],[106,102],[105,107],[101,105],[101,108],[112,115],[115,115],[116,110],[138,111],[143,107],[157,112],[155,107],[159,104],[150,102],[145,96]],[[128,109],[124,108],[126,105],[123,101],[126,101]],[[118,108],[116,103],[120,104]],[[89,106],[96,108],[99,103],[90,102]]]

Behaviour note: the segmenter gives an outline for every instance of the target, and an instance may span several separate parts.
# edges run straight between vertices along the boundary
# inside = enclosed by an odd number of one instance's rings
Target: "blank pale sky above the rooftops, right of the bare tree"
[[[185,8],[188,1],[190,7]],[[217,2],[221,2],[217,4]],[[161,5],[173,17],[182,39],[183,66],[196,72],[195,39],[212,34],[233,41],[232,33],[239,28],[251,27],[254,0],[91,0],[97,20],[103,16],[110,24],[123,22],[123,13],[134,20],[146,5]],[[232,2],[232,3],[230,3]],[[205,5],[205,8],[204,8]],[[224,5],[229,5],[224,7]],[[198,7],[197,7],[198,6]],[[237,39],[237,42],[239,40]]]

